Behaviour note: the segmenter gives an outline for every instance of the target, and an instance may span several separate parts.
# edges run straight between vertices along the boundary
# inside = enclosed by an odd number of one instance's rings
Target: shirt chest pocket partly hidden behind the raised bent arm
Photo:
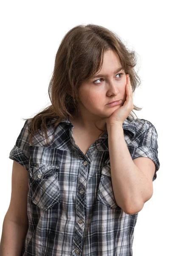
[[[113,193],[112,180],[110,175],[110,165],[104,166],[101,170],[101,179],[99,183],[97,199],[102,204],[105,204],[107,207],[110,207],[112,209],[118,206],[116,204]]]

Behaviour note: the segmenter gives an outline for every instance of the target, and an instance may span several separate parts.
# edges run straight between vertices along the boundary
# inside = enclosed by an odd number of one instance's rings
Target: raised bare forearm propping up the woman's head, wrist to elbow
[[[111,125],[107,132],[115,201],[127,213],[139,212],[144,206],[149,182],[132,160],[122,126]]]

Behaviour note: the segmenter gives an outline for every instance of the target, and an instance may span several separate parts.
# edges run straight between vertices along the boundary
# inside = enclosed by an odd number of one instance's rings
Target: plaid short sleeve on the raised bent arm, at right
[[[146,131],[142,133],[138,148],[132,157],[133,160],[138,157],[149,157],[155,163],[155,174],[152,181],[156,179],[156,172],[160,168],[157,138],[158,134],[154,125],[149,125],[149,127],[146,128]]]

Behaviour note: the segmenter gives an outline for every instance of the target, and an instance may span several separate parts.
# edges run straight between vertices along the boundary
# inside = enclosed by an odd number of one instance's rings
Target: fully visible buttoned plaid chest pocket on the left
[[[31,200],[45,211],[60,202],[58,169],[42,164],[29,168]]]

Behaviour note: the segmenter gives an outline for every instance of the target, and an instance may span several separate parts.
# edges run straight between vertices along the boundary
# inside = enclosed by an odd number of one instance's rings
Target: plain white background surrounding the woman
[[[158,131],[161,167],[154,193],[138,214],[134,256],[168,255],[169,44],[165,1],[8,1],[0,3],[0,234],[11,196],[8,158],[25,121],[47,105],[48,84],[63,36],[94,23],[116,32],[138,56],[141,86],[134,94],[138,118]],[[167,35],[168,34],[168,35]]]

